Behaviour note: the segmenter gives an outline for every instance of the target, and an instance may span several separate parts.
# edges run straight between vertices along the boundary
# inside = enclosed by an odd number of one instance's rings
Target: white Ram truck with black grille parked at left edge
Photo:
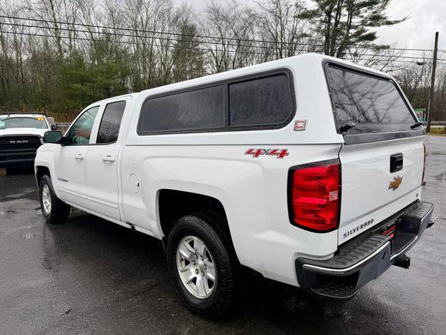
[[[33,166],[43,135],[54,129],[40,113],[0,114],[0,168]]]

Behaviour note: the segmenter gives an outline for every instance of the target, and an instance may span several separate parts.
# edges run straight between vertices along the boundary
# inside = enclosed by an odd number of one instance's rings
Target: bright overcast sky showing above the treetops
[[[175,3],[184,1],[174,0]],[[255,0],[238,1],[253,3]],[[187,2],[192,3],[197,10],[206,5],[206,0]],[[439,48],[446,49],[446,0],[392,0],[387,12],[394,19],[405,16],[410,16],[410,18],[392,27],[378,28],[379,43],[397,44],[398,47],[433,49],[435,32],[439,31]]]

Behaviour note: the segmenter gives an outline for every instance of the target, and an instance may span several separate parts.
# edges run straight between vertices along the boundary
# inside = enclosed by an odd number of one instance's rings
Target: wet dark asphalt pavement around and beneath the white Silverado
[[[33,174],[0,176],[0,334],[446,334],[446,137],[426,147],[436,224],[410,269],[391,267],[345,304],[248,277],[222,322],[183,306],[159,241],[82,212],[47,225]]]

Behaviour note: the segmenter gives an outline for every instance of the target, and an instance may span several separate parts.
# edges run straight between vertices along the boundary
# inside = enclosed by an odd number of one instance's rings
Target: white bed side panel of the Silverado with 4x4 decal
[[[288,170],[313,161],[316,152],[319,161],[335,158],[340,144],[282,145],[289,150],[284,159],[252,158],[244,154],[249,148],[247,144],[125,146],[121,156],[125,220],[160,238],[159,190],[208,195],[224,206],[240,262],[268,278],[296,285],[296,255],[334,253],[337,232],[314,234],[290,224]],[[128,184],[132,173],[139,177],[137,194]]]

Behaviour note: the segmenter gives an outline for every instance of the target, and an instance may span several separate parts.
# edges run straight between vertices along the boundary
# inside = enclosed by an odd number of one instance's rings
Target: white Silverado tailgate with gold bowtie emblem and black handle
[[[339,160],[342,184],[339,244],[420,199],[422,136],[344,145]]]

